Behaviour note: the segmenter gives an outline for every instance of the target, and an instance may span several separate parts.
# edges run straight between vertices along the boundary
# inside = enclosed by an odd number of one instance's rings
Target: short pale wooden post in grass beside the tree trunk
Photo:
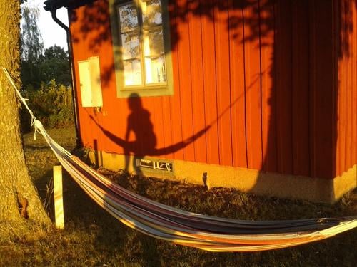
[[[62,194],[62,166],[54,166],[54,214],[56,228],[64,229],[64,200]]]

